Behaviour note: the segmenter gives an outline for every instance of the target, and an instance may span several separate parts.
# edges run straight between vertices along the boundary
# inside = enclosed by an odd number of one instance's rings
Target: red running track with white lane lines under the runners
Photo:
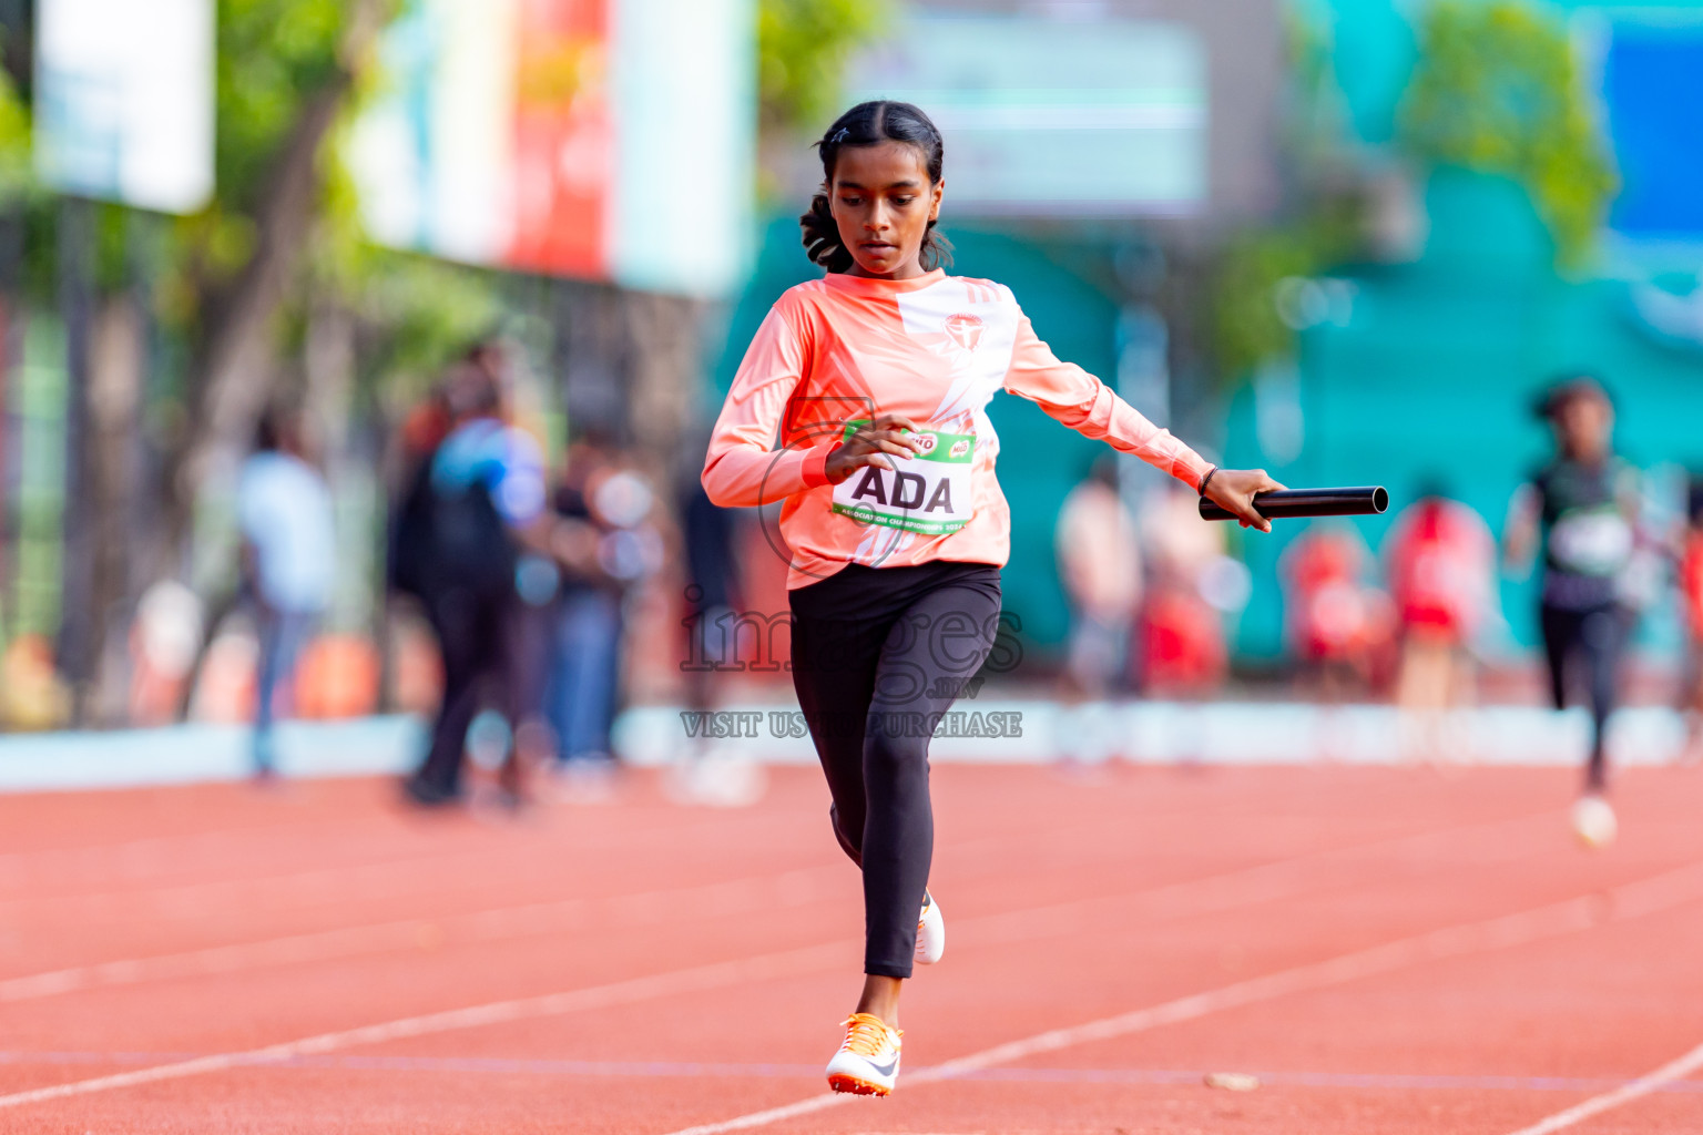
[[[882,1101],[823,1091],[862,915],[811,771],[0,798],[0,1132],[1703,1132],[1703,769],[1628,773],[1606,851],[1560,769],[933,783]]]

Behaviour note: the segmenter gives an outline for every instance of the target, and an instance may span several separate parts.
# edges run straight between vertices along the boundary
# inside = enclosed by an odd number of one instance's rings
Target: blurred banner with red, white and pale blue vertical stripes
[[[409,0],[351,136],[381,243],[719,294],[756,162],[751,0]]]

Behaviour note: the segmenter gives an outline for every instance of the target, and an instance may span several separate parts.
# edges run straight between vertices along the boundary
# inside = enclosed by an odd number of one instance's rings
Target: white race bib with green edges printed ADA
[[[846,422],[845,437],[869,425]],[[884,524],[923,536],[945,536],[969,524],[974,516],[971,465],[974,434],[911,434],[916,453],[909,458],[882,454],[897,468],[865,465],[834,485],[834,512],[860,524]]]

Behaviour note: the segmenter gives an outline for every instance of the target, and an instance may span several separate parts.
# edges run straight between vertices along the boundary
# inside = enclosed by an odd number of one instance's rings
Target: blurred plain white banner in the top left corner
[[[213,196],[213,0],[37,0],[36,168],[162,213]]]

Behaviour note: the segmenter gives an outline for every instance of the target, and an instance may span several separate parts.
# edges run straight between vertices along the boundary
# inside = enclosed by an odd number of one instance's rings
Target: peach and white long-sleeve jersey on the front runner
[[[1093,374],[1056,359],[1008,288],[935,269],[904,281],[828,274],[782,294],[727,391],[703,488],[727,507],[785,502],[788,587],[846,563],[1003,567],[1012,512],[988,420],[1001,390],[1190,487],[1211,468]],[[829,485],[829,451],[882,414],[916,422],[925,453]]]

